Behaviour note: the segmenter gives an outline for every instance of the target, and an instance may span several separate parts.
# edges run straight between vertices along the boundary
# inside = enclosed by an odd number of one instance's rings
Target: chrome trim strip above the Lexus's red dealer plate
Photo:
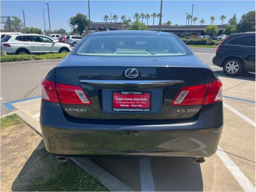
[[[91,86],[101,86],[101,87],[130,87],[130,86],[138,86],[138,87],[162,87],[168,86],[177,83],[184,83],[182,80],[80,80],[82,84],[87,84]]]

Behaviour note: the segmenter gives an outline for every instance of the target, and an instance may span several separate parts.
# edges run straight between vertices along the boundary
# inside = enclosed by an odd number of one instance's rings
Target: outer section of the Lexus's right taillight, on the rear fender
[[[220,80],[209,83],[204,104],[217,103],[222,100],[222,83]]]

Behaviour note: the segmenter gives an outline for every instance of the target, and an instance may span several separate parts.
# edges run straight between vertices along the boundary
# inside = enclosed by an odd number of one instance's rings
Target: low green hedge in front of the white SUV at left
[[[44,54],[44,55],[3,55],[0,57],[0,62],[63,59],[67,55],[68,55],[68,52],[50,53],[50,54]]]

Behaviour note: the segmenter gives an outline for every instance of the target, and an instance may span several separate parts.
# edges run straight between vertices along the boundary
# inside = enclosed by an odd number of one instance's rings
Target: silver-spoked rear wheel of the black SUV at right
[[[229,76],[237,76],[243,73],[244,66],[241,60],[228,59],[223,65],[223,71]]]

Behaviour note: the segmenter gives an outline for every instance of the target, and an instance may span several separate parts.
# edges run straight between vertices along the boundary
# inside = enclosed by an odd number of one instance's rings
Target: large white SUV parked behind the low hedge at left
[[[71,47],[38,34],[6,35],[1,40],[1,49],[7,54],[39,54],[70,52]]]

